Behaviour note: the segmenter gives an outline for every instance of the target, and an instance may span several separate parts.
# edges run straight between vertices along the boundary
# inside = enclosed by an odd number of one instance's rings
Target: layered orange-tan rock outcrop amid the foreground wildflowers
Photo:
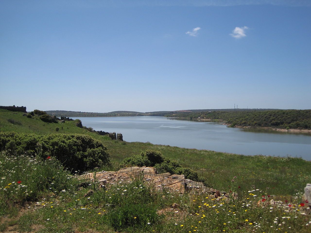
[[[94,173],[87,173],[80,177],[81,179],[88,177],[90,181],[94,181]],[[120,181],[134,180],[137,177],[142,178],[155,190],[165,189],[178,193],[202,191],[211,195],[212,198],[215,197],[214,194],[217,192],[226,195],[225,192],[205,187],[201,182],[185,179],[184,175],[172,175],[168,172],[158,174],[154,167],[124,167],[119,171],[101,171],[96,173],[96,181],[99,187],[106,187],[109,184],[115,184]]]

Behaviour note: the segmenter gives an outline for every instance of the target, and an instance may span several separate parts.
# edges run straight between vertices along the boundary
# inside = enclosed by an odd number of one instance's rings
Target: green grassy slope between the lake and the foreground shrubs
[[[19,133],[80,133],[99,139],[108,147],[114,167],[117,169],[123,158],[139,154],[146,149],[159,150],[164,156],[178,161],[184,167],[192,168],[207,178],[209,184],[220,190],[232,185],[237,176],[236,186],[241,189],[273,189],[274,194],[295,194],[302,191],[306,183],[311,183],[311,162],[301,158],[280,158],[270,156],[244,156],[209,150],[187,149],[167,145],[155,145],[141,142],[120,142],[110,140],[75,126],[75,121],[65,123],[45,123],[39,119],[22,116],[22,112],[0,110],[0,131]],[[19,121],[21,125],[7,120]],[[83,119],[82,119],[83,124]],[[57,132],[55,127],[60,129]],[[63,126],[63,129],[61,129]]]

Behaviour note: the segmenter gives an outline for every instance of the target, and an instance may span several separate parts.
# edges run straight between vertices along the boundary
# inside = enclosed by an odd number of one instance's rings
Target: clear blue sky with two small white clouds
[[[0,2],[0,105],[311,108],[311,1]]]

